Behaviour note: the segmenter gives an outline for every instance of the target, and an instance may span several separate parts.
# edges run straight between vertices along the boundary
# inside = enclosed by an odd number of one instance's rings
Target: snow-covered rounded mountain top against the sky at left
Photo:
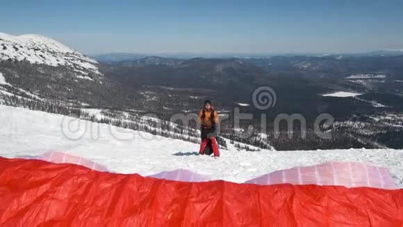
[[[13,36],[0,33],[0,61],[12,59],[33,64],[63,65],[99,74],[97,61],[41,35]]]

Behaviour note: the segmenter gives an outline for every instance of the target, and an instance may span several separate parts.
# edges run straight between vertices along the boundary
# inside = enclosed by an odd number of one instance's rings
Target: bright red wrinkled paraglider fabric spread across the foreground
[[[0,157],[0,226],[403,226],[403,190],[177,182]]]

